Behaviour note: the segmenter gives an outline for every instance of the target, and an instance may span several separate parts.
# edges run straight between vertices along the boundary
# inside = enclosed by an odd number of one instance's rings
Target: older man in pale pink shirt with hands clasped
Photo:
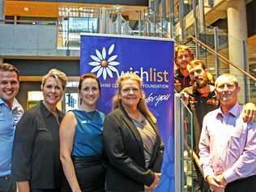
[[[233,75],[220,75],[220,108],[207,113],[199,142],[204,178],[215,192],[256,191],[256,123],[245,123]]]

